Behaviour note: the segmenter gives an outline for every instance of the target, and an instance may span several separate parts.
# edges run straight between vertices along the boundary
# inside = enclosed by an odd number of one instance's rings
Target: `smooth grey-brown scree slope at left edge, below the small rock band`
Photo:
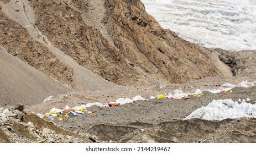
[[[0,65],[0,106],[11,107],[18,103],[31,106],[43,102],[50,95],[74,91],[3,48],[0,48]]]

